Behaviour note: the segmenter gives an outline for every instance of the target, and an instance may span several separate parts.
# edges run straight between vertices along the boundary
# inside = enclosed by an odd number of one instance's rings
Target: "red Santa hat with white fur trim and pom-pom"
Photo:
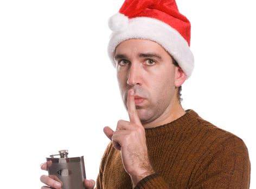
[[[180,14],[175,0],[125,0],[108,26],[112,30],[108,56],[114,63],[114,51],[127,39],[149,39],[162,45],[176,60],[187,77],[194,68],[190,45],[190,22]]]

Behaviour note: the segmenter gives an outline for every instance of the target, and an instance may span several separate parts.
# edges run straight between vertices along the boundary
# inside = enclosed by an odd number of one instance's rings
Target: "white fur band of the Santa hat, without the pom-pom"
[[[119,43],[127,39],[149,39],[162,45],[170,55],[177,61],[181,69],[187,75],[191,76],[194,69],[194,56],[187,41],[180,33],[155,18],[136,17],[129,19],[126,30],[112,30],[110,42],[108,43],[108,56],[114,66],[114,51]]]

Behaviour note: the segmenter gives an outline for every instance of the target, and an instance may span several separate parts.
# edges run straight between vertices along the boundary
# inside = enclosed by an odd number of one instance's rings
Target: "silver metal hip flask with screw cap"
[[[46,160],[49,177],[59,181],[62,189],[85,189],[84,156],[68,158],[68,150],[60,150],[59,154],[50,155]]]

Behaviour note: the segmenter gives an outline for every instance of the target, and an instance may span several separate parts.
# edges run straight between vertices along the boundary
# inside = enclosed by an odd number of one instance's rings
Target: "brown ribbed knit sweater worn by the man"
[[[138,188],[249,188],[247,147],[234,134],[203,120],[193,110],[166,125],[146,129],[155,174]],[[120,151],[110,143],[101,159],[97,189],[132,188]]]

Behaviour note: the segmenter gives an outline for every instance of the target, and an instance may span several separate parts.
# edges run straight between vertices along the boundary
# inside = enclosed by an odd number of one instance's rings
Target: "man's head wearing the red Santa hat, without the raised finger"
[[[181,107],[181,84],[193,71],[194,56],[189,48],[190,22],[175,0],[126,0],[108,25],[113,31],[108,55],[117,65],[124,103],[133,88],[144,123]]]

